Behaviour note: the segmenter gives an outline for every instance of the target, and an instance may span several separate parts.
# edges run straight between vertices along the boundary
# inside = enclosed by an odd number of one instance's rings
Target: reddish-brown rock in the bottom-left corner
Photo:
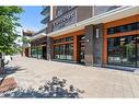
[[[16,86],[18,86],[18,84],[13,78],[3,79],[0,82],[0,93],[13,90]]]

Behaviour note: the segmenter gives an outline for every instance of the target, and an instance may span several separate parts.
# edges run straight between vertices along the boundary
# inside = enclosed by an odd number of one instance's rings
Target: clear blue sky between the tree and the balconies
[[[40,5],[25,5],[22,8],[24,12],[19,15],[21,18],[20,23],[22,28],[39,30],[43,26],[43,24],[40,24],[40,21],[44,19],[40,14],[43,8]]]

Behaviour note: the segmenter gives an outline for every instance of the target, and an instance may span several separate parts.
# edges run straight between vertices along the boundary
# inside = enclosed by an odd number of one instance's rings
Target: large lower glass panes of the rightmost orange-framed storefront
[[[108,63],[136,67],[136,36],[108,38]]]

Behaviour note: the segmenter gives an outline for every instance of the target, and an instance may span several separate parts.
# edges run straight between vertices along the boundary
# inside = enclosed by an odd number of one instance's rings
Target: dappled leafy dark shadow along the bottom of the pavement
[[[59,80],[57,77],[53,77],[51,81],[47,81],[38,90],[18,88],[14,91],[3,93],[2,97],[81,97],[80,94],[84,93],[79,89],[74,89],[73,85],[66,88],[66,80]]]

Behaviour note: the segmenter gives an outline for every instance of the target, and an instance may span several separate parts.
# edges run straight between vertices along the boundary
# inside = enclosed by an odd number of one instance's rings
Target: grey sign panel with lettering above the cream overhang
[[[76,11],[71,11],[68,14],[65,14],[63,16],[54,21],[53,31],[71,25],[73,23],[76,23]]]

